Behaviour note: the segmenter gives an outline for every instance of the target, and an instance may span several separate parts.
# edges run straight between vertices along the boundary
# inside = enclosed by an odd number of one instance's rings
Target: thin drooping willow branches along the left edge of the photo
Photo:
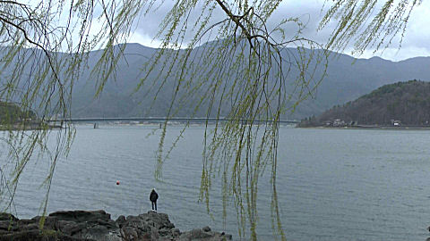
[[[94,15],[97,8],[103,10],[102,15]],[[37,154],[50,166],[47,178],[41,180],[47,188],[41,207],[42,214],[46,213],[56,162],[68,153],[73,141],[73,127],[63,125],[63,120],[70,118],[73,82],[86,71],[85,60],[90,50],[101,46],[104,53],[110,53],[114,45],[125,41],[131,28],[128,23],[139,9],[140,1],[113,5],[92,1],[71,1],[69,5],[50,0],[31,4],[0,1],[0,130],[3,133],[0,141],[4,146],[2,154],[8,156],[4,158],[7,162],[0,163],[7,178],[0,187],[0,204],[4,204],[4,209],[13,207],[22,173],[30,161],[38,159]],[[120,22],[108,32],[93,35],[91,22],[98,17],[103,29],[112,22]],[[106,37],[110,41],[103,42]],[[108,54],[100,58],[99,69],[94,70],[99,71],[99,86],[112,74],[117,58]],[[61,123],[63,129],[53,131],[53,124],[49,123]],[[48,145],[49,139],[54,139],[56,144]]]

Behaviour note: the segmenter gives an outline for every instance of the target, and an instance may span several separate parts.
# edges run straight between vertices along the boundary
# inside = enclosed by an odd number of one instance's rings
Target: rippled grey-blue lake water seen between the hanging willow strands
[[[150,189],[159,212],[181,230],[209,225],[238,238],[234,205],[221,218],[221,192],[211,193],[211,216],[198,202],[202,171],[199,126],[185,131],[154,179],[159,132],[154,126],[78,126],[71,153],[56,166],[48,212],[103,209],[118,215],[150,210]],[[171,141],[182,126],[169,126]],[[169,146],[169,145],[167,145]],[[430,225],[430,131],[294,129],[282,127],[278,195],[288,240],[426,240]],[[3,156],[2,163],[7,162]],[[47,160],[30,162],[14,204],[19,218],[38,215]],[[259,181],[261,240],[271,240],[271,192]],[[116,186],[116,180],[121,184]]]

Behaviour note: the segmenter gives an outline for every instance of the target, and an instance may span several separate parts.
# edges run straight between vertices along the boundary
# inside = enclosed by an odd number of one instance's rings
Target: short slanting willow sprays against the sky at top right
[[[411,13],[421,2],[422,0],[335,1],[318,29],[323,29],[330,21],[338,21],[326,45],[337,51],[344,51],[352,42],[352,54],[363,54],[368,48],[373,48],[376,53],[391,46],[394,37],[399,35],[401,47]],[[328,4],[328,1],[325,3]]]

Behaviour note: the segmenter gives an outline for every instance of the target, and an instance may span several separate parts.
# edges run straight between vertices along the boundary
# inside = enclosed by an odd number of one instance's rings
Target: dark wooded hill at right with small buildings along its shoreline
[[[429,126],[430,83],[410,80],[379,87],[355,101],[306,118],[299,127],[357,125]]]

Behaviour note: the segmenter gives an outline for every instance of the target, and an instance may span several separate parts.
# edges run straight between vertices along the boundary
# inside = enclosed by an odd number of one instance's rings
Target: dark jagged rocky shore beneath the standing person
[[[220,241],[231,235],[214,232],[211,228],[182,232],[168,220],[168,214],[148,212],[138,216],[110,219],[105,211],[60,211],[41,217],[19,220],[12,214],[0,212],[0,241],[65,240],[65,241]]]

